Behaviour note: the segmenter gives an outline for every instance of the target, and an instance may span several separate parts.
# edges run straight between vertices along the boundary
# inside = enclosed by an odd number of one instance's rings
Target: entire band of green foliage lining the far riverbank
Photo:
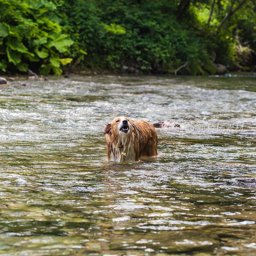
[[[213,5],[212,5],[213,4]],[[0,70],[62,67],[214,74],[256,64],[256,9],[244,0],[0,0]],[[213,7],[213,8],[212,8]],[[242,50],[241,50],[242,49]],[[74,60],[74,61],[73,61]],[[216,67],[216,65],[215,65]]]

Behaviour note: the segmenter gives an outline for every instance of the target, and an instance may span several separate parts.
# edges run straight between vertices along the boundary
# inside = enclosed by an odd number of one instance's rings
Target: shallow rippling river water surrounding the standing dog
[[[1,256],[255,255],[255,77],[24,79],[0,87]],[[116,116],[181,129],[108,162]]]

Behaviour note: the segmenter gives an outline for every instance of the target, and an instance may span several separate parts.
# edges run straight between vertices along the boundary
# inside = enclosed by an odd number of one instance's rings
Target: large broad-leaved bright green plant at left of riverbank
[[[56,22],[56,5],[46,0],[0,0],[0,5],[0,70],[13,65],[26,72],[33,65],[43,74],[60,75],[60,64],[72,61],[61,56],[73,41]]]

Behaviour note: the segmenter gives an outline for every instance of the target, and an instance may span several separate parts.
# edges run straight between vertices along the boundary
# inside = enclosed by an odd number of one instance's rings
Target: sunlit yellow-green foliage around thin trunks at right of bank
[[[208,52],[216,53],[215,62],[227,65],[231,70],[244,69],[240,65],[241,62],[247,66],[253,66],[252,62],[255,65],[255,4],[252,1],[243,0],[216,0],[211,21],[208,24],[206,19],[209,18],[211,4],[212,0],[196,2],[190,10],[196,15],[196,25],[201,27],[200,34],[207,41]],[[209,10],[208,18],[207,10]],[[247,63],[241,61],[243,54],[237,52],[238,46],[249,48],[254,57],[252,56]]]

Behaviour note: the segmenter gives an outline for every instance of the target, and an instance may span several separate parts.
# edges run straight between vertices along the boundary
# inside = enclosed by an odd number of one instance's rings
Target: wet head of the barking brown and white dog
[[[107,124],[103,134],[113,134],[116,138],[129,136],[132,132],[133,121],[126,116],[118,116]]]

